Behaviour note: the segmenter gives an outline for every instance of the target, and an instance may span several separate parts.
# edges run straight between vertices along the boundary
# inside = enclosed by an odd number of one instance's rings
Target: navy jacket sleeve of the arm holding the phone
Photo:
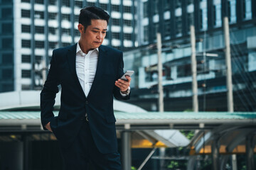
[[[124,60],[122,52],[120,52],[117,72],[117,79],[120,79],[120,77],[122,77],[122,75],[124,74]],[[120,89],[117,86],[114,86],[114,98],[116,98],[117,100],[128,100],[130,98],[130,94],[131,93],[129,93],[129,95],[127,96],[122,96],[120,94]]]

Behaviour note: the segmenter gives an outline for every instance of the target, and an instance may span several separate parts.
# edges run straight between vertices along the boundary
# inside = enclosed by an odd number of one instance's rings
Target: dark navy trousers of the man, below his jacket
[[[93,141],[89,123],[84,120],[73,145],[60,147],[66,170],[122,170],[118,152],[102,154]]]

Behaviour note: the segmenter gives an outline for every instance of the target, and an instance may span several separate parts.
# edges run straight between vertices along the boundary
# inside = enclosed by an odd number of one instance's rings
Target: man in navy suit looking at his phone
[[[110,16],[101,8],[80,10],[80,40],[53,50],[48,77],[41,91],[41,123],[60,144],[65,169],[121,169],[113,96],[129,99],[122,52],[102,45]],[[60,111],[53,115],[61,86]]]

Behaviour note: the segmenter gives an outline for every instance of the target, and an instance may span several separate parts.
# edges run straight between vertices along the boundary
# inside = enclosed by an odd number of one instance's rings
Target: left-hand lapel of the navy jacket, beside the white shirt
[[[80,90],[81,94],[83,96],[85,96],[85,93],[82,90],[82,86],[81,86],[80,81],[78,79],[78,74],[76,73],[76,69],[75,69],[75,59],[76,59],[76,47],[77,47],[77,44],[78,43],[75,43],[75,45],[72,45],[70,47],[70,49],[68,49],[68,53],[67,53],[68,64],[69,64],[69,67],[70,67],[70,72],[71,72],[71,74],[73,75],[73,77],[75,79],[75,83],[78,84],[78,86],[79,86],[78,89]],[[85,98],[86,98],[86,96],[85,96]]]

